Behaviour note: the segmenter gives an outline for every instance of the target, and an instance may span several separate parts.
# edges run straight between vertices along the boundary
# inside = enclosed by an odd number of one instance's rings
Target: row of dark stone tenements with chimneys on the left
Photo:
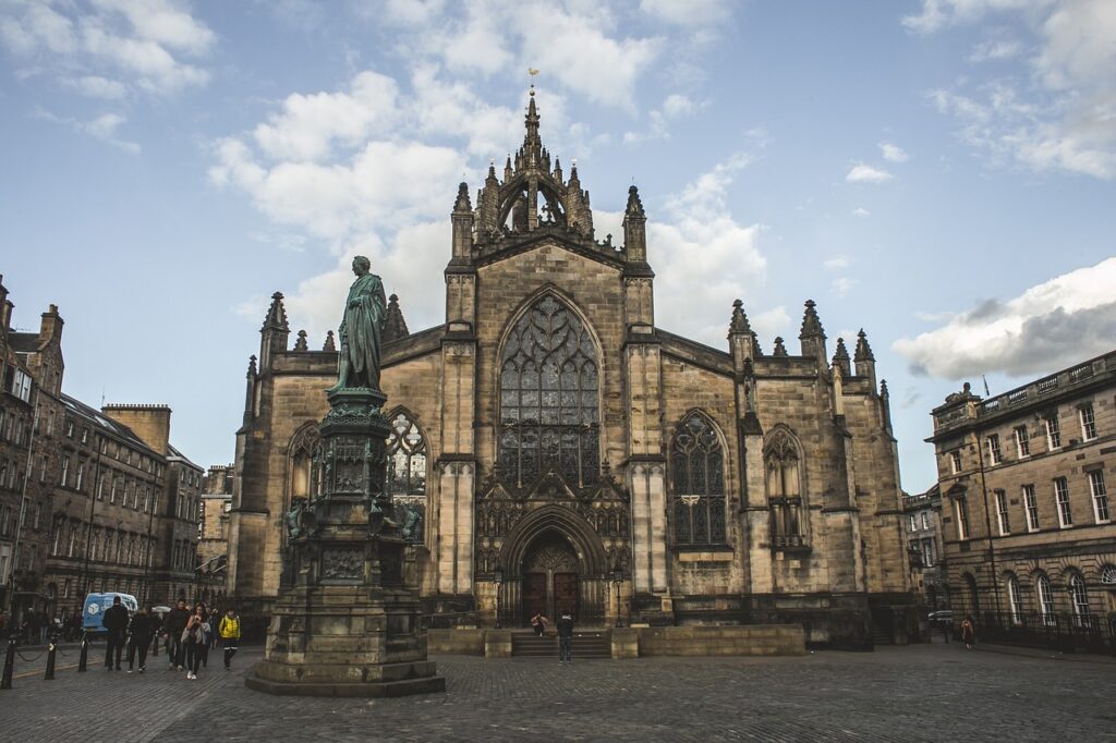
[[[11,302],[4,306],[6,378],[22,380],[0,406],[12,431],[22,432],[13,434],[22,442],[19,457],[3,457],[17,467],[18,485],[0,489],[13,490],[17,501],[26,493],[23,518],[8,528],[21,566],[13,573],[15,614],[65,619],[93,591],[132,594],[146,604],[192,597],[203,471],[170,444],[171,408],[97,409],[62,393],[58,308],[42,313],[38,332],[18,332],[9,327]],[[10,506],[7,498],[3,505]]]

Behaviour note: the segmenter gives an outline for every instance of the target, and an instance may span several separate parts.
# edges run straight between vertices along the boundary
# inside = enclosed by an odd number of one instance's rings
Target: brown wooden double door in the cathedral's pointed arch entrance
[[[521,567],[522,616],[529,623],[536,611],[555,618],[564,611],[578,614],[577,552],[556,531],[539,534],[527,548]]]

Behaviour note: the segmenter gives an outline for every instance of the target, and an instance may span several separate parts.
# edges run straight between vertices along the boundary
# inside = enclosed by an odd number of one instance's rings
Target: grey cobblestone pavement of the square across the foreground
[[[86,674],[17,677],[0,692],[0,740],[1101,741],[1116,731],[1116,666],[956,643],[567,666],[433,656],[446,692],[400,699],[271,697],[243,684],[259,649],[241,650],[231,673],[219,657],[196,682],[163,656],[144,675],[108,673],[96,653]]]

